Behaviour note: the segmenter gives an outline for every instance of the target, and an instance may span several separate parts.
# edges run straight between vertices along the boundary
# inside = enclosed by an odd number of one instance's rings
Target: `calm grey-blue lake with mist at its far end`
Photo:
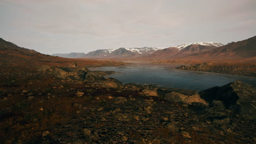
[[[137,63],[118,67],[90,68],[90,70],[115,71],[115,74],[106,77],[113,77],[123,83],[156,84],[161,87],[196,91],[214,86],[223,86],[236,80],[256,86],[256,78],[254,77],[175,69],[175,67],[181,65]]]

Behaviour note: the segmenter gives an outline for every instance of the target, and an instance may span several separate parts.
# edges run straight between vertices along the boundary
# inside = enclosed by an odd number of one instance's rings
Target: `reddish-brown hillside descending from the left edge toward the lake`
[[[78,66],[99,66],[99,65],[119,65],[121,63],[113,61],[97,61],[91,59],[69,59],[50,55],[44,55],[34,50],[19,47],[9,41],[0,38],[0,64],[10,65],[11,67],[19,66],[21,68],[28,67],[28,65],[51,65],[51,66],[65,66],[68,63],[76,62]],[[2,69],[0,69],[2,70]]]

